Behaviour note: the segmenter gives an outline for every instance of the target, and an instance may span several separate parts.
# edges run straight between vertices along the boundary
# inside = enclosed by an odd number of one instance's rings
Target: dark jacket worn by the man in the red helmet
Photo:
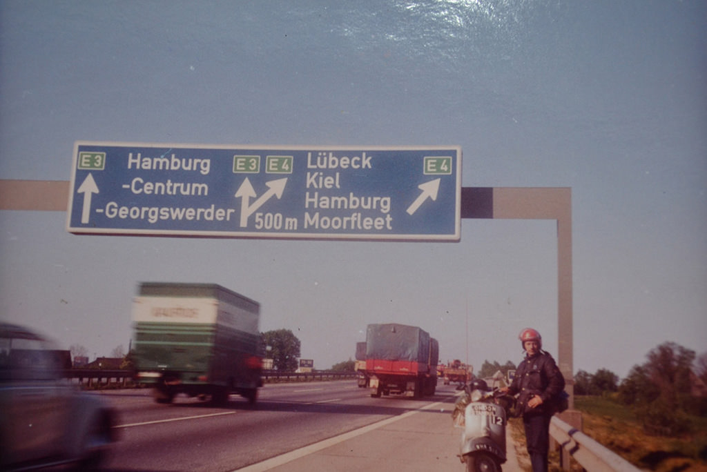
[[[544,350],[532,358],[525,358],[518,365],[510,384],[508,393],[518,395],[520,412],[525,414],[553,415],[556,408],[556,399],[565,388],[565,377],[557,367],[555,360]],[[536,408],[527,408],[527,402],[534,395],[539,395],[542,405]]]

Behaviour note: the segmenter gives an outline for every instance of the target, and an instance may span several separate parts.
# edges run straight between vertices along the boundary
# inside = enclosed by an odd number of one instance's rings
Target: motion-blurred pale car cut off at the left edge
[[[62,378],[71,367],[63,352],[0,322],[1,471],[62,464],[95,470],[115,440],[115,411]]]

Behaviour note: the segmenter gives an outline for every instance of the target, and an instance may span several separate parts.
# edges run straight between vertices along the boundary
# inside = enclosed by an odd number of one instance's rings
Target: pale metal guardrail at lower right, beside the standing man
[[[550,436],[563,451],[572,456],[585,470],[591,472],[640,472],[629,461],[619,456],[577,428],[554,416],[550,421]]]

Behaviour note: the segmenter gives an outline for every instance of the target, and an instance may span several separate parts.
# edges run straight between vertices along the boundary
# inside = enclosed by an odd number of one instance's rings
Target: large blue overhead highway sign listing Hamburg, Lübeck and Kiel
[[[75,234],[460,240],[459,146],[77,141]]]

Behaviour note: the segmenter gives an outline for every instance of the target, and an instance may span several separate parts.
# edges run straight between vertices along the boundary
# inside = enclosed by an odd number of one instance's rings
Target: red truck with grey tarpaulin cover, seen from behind
[[[439,344],[427,331],[404,324],[369,324],[366,376],[370,396],[402,394],[419,398],[437,387]]]

